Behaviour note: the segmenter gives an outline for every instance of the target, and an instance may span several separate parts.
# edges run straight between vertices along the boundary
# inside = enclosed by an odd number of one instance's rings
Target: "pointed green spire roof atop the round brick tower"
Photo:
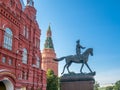
[[[49,25],[48,30],[47,30],[47,37],[45,40],[44,48],[54,50],[54,46],[53,46],[53,42],[52,42],[52,32],[51,32],[50,25]]]

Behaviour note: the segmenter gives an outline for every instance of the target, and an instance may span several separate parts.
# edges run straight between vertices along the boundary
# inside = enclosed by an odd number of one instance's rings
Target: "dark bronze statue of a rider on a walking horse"
[[[83,52],[83,53],[81,54],[81,49],[85,49],[85,47],[83,47],[83,46],[81,46],[81,45],[79,44],[79,43],[80,43],[80,40],[77,40],[76,43],[77,43],[77,44],[76,44],[76,55],[69,55],[69,56],[64,56],[64,57],[61,57],[61,58],[53,59],[53,60],[55,60],[55,61],[62,61],[62,60],[65,59],[66,64],[65,64],[65,66],[64,66],[64,68],[63,68],[63,72],[62,72],[61,74],[64,73],[65,68],[67,68],[68,73],[71,73],[70,70],[69,70],[69,67],[70,67],[70,65],[71,65],[72,63],[82,63],[82,66],[81,66],[81,68],[80,68],[80,72],[81,72],[81,73],[83,73],[83,72],[82,72],[82,69],[83,69],[84,65],[87,66],[87,68],[89,69],[90,73],[95,73],[95,72],[93,72],[93,71],[90,69],[90,67],[89,67],[89,65],[88,65],[88,63],[87,63],[87,62],[88,62],[88,57],[89,57],[89,55],[93,56],[93,48],[88,48],[88,49],[85,50],[85,52]]]

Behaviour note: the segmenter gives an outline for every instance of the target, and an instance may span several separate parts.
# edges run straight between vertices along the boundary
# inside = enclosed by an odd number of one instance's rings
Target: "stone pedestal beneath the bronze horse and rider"
[[[60,90],[93,90],[94,77],[87,74],[64,74],[60,79]]]

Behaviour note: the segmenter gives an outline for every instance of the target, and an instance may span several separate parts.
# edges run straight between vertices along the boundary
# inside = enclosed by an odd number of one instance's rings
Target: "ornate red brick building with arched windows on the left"
[[[33,0],[0,0],[0,90],[46,90]]]

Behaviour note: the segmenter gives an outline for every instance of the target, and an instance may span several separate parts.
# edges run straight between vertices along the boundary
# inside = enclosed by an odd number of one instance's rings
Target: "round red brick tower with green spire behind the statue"
[[[53,61],[53,58],[56,58],[56,53],[52,42],[52,32],[50,25],[48,27],[46,36],[47,37],[42,52],[42,68],[45,71],[52,69],[54,71],[54,74],[58,75],[58,63]]]

